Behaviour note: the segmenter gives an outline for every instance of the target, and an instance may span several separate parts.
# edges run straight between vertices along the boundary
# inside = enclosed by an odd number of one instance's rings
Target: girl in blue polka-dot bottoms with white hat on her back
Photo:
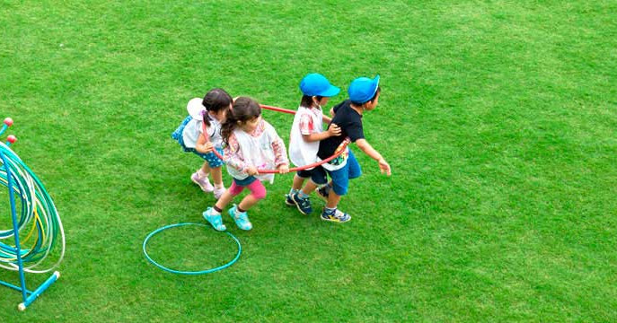
[[[190,176],[190,180],[204,192],[214,192],[216,199],[225,192],[221,171],[223,161],[212,151],[216,149],[223,154],[221,123],[225,121],[225,113],[231,105],[232,97],[223,89],[213,89],[207,92],[203,99],[192,99],[187,105],[190,116],[185,118],[172,134],[172,138],[178,141],[185,152],[196,153],[206,160],[201,168]],[[208,175],[212,175],[214,187],[207,179]]]

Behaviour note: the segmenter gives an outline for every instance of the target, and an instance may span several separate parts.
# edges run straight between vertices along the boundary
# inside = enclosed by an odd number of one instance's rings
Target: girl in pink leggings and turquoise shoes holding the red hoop
[[[234,181],[216,205],[208,207],[203,216],[217,231],[225,231],[221,219],[223,208],[244,188],[249,188],[251,194],[244,196],[239,205],[234,205],[229,215],[240,229],[251,230],[252,224],[246,211],[266,197],[266,188],[261,181],[274,181],[274,174],[259,174],[258,170],[276,167],[281,174],[289,171],[285,143],[274,127],[261,118],[260,104],[247,97],[234,100],[221,127],[221,135],[225,143],[227,172]]]

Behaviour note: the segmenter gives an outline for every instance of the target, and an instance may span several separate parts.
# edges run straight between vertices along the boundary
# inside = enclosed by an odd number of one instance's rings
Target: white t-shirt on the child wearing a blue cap
[[[319,141],[304,141],[302,135],[323,132],[323,112],[320,108],[299,107],[289,135],[289,159],[295,166],[302,167],[317,162]]]

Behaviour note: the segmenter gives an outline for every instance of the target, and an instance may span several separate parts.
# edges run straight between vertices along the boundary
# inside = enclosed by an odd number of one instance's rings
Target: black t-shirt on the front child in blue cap
[[[350,104],[350,100],[345,100],[334,107],[334,118],[331,124],[340,127],[340,135],[331,136],[319,142],[317,156],[322,160],[333,155],[345,138],[349,137],[351,142],[355,143],[357,139],[365,137],[362,129],[362,115],[352,109]]]

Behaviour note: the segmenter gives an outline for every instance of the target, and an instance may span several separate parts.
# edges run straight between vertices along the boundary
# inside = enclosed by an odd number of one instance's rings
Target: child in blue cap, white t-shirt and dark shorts
[[[289,159],[298,167],[317,162],[320,140],[340,135],[340,129],[336,125],[332,124],[327,131],[323,131],[322,126],[323,122],[331,121],[323,115],[322,106],[328,103],[330,97],[339,94],[340,89],[332,86],[322,74],[308,74],[300,82],[300,91],[303,96],[289,135]],[[310,180],[300,190],[305,179]],[[300,213],[310,214],[313,208],[309,195],[317,186],[326,182],[326,172],[321,166],[298,170],[291,190],[286,195],[286,205],[295,205]]]

